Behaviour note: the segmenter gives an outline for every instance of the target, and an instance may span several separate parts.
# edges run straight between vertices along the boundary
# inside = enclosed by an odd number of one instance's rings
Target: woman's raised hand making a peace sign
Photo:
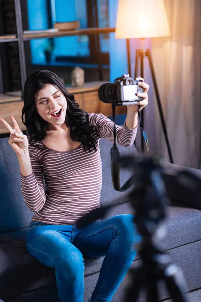
[[[0,122],[5,126],[5,128],[10,132],[9,144],[16,153],[18,157],[24,156],[28,153],[28,139],[27,136],[22,133],[20,130],[15,118],[12,115],[9,115],[14,129],[3,119],[0,118]]]

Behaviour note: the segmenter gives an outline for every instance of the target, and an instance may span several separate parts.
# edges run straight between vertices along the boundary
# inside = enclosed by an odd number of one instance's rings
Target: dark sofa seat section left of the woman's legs
[[[55,284],[54,269],[32,257],[24,240],[0,235],[0,259],[0,296],[3,300]]]

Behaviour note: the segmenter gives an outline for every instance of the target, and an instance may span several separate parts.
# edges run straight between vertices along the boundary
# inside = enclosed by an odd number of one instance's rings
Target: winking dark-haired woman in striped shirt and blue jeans
[[[140,79],[142,109],[148,104],[149,86]],[[76,222],[99,207],[99,138],[113,142],[113,122],[102,114],[79,109],[62,81],[47,70],[30,75],[23,99],[22,120],[28,137],[13,116],[14,129],[0,121],[10,132],[9,144],[19,160],[24,200],[35,212],[26,235],[27,250],[55,269],[62,302],[83,302],[83,256],[105,255],[89,301],[110,301],[136,254],[134,243],[139,237],[133,216],[98,220],[82,229]],[[137,115],[137,106],[128,106],[124,126],[116,126],[119,145],[133,144]]]

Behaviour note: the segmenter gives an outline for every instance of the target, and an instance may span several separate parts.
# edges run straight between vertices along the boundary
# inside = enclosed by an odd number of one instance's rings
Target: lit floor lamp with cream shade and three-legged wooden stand
[[[168,149],[170,162],[173,163],[171,148],[167,135],[166,124],[164,120],[163,110],[161,106],[158,86],[156,82],[151,51],[144,50],[143,42],[145,38],[165,37],[170,36],[169,25],[163,0],[119,0],[117,22],[116,22],[116,39],[127,39],[128,47],[128,65],[130,72],[130,49],[129,40],[133,38],[140,38],[142,41],[141,49],[136,50],[135,57],[135,78],[138,75],[138,66],[140,61],[140,75],[144,78],[144,57],[148,57],[149,66],[153,85],[156,93],[157,105],[159,109],[161,124],[165,141]],[[143,110],[141,112],[143,122]],[[144,150],[144,141],[141,138],[142,150]]]

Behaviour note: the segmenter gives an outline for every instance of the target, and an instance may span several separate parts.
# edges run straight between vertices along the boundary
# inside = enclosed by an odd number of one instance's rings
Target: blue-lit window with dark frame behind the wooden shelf
[[[95,7],[96,4],[96,7]],[[97,19],[95,12],[97,8]],[[109,26],[109,0],[51,0],[52,26],[54,22],[80,22],[80,29]],[[65,12],[65,15],[64,15]],[[100,57],[98,56],[98,42]],[[54,39],[56,62],[109,64],[109,35],[73,36]]]

